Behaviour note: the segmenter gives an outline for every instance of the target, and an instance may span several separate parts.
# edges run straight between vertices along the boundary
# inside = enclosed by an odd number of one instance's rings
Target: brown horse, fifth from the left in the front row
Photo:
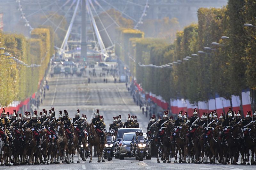
[[[74,145],[71,145],[71,140],[68,138],[68,135],[65,132],[64,123],[59,122],[58,126],[60,127],[59,128],[59,136],[63,139],[62,142],[60,143],[60,147],[62,148],[62,155],[61,156],[63,158],[67,156],[67,163],[70,164],[70,162],[71,162],[70,155],[73,152],[73,146]],[[74,136],[74,134],[73,134],[73,136]],[[74,140],[75,140],[75,136],[74,136]],[[62,160],[61,163],[63,164],[64,160]],[[74,163],[74,161],[73,161],[73,163]]]

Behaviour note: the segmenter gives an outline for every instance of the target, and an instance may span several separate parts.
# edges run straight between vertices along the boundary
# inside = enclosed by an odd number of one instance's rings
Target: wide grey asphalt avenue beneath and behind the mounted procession
[[[114,64],[114,63],[112,63]],[[101,72],[101,68],[96,67],[97,75]],[[87,69],[87,73],[89,69]],[[148,118],[142,115],[142,111],[137,106],[132,97],[126,90],[124,83],[114,83],[112,76],[105,77],[108,79],[108,83],[103,82],[102,77],[91,77],[91,83],[87,83],[88,75],[84,77],[73,77],[64,75],[55,75],[53,78],[48,78],[50,90],[46,91],[46,96],[43,101],[43,105],[40,106],[40,110],[43,108],[49,110],[51,107],[55,107],[56,116],[59,114],[59,110],[67,110],[69,117],[75,117],[77,109],[80,109],[80,114],[87,115],[88,122],[92,118],[95,109],[100,110],[100,115],[104,116],[104,122],[108,129],[109,124],[112,123],[112,117],[122,115],[122,122],[126,121],[128,114],[137,115],[140,127],[143,131],[146,131],[148,124]],[[96,82],[96,83],[95,83]],[[75,156],[75,162],[77,161],[77,155]],[[112,161],[107,160],[102,163],[97,162],[97,158],[92,158],[92,163],[87,161],[81,161],[74,164],[57,164],[57,165],[33,165],[33,166],[0,166],[0,169],[10,170],[71,170],[71,169],[227,169],[227,170],[240,170],[240,169],[256,169],[256,166],[234,166],[234,165],[210,165],[210,164],[188,164],[178,163],[175,164],[174,159],[172,163],[157,163],[156,158],[151,160],[144,160],[143,162],[136,161],[135,158],[124,158],[119,160],[113,158]],[[240,162],[239,162],[240,163]]]

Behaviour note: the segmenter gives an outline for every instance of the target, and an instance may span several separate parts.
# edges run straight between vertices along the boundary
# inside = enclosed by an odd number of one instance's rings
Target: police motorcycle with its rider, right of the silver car
[[[148,157],[150,157],[151,159],[151,155],[149,156],[149,153],[148,153],[148,148],[150,147],[150,140],[147,140],[145,136],[143,136],[142,131],[140,131],[139,136],[135,140],[134,145],[135,145],[134,155],[136,160],[143,161],[144,158],[149,159]]]

